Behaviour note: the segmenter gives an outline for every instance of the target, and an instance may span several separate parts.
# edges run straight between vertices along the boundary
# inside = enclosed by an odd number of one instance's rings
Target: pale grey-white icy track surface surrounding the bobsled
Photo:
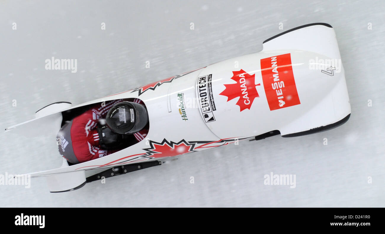
[[[52,102],[79,104],[258,52],[314,22],[335,28],[352,106],[348,122],[327,132],[182,155],[77,191],[49,193],[44,178],[29,189],[2,185],[0,207],[384,207],[383,12],[383,1],[0,2],[3,128]],[[77,72],[45,70],[51,57],[77,59]],[[60,166],[38,135],[0,133],[1,174]],[[270,172],[295,174],[296,187],[265,186]]]

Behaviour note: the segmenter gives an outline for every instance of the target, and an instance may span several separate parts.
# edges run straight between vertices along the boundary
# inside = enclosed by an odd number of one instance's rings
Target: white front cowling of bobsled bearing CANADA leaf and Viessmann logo
[[[351,112],[345,72],[330,25],[290,30],[266,40],[261,52],[208,66],[199,77],[209,74],[216,110],[215,121],[207,125],[220,138],[272,130],[279,130],[284,137],[305,135],[347,120]],[[244,83],[249,80],[247,89],[240,87],[245,78]]]

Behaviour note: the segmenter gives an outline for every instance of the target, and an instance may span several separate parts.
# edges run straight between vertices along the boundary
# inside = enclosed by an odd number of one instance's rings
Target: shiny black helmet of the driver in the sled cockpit
[[[119,102],[105,117],[107,126],[119,134],[134,134],[146,126],[148,114],[143,105],[136,102]]]

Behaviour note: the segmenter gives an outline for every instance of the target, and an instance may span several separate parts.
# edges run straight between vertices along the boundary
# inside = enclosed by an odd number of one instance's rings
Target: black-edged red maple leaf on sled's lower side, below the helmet
[[[167,142],[164,139],[161,143],[150,141],[151,148],[145,149],[148,156],[153,158],[172,157],[181,154],[194,152],[195,144],[189,144],[185,140],[178,143]]]

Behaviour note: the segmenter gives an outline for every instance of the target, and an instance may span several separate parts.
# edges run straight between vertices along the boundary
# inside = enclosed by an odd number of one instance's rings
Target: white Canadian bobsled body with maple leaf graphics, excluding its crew
[[[329,24],[312,23],[265,40],[258,53],[75,106],[50,104],[35,119],[6,131],[33,124],[52,134],[46,147],[57,150],[56,134],[65,121],[90,105],[117,99],[144,103],[149,121],[145,138],[104,157],[79,164],[63,159],[59,168],[29,175],[46,177],[50,192],[72,191],[240,140],[329,130],[345,123],[351,112],[335,31]]]

